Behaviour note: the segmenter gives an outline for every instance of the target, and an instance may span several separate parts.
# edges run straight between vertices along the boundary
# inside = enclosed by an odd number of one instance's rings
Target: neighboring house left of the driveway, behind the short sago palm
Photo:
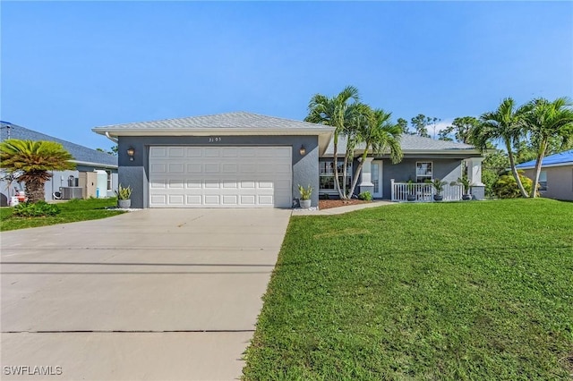
[[[0,122],[0,140],[47,140],[64,146],[76,165],[73,171],[53,171],[46,182],[45,199],[80,199],[114,196],[117,190],[117,157],[66,140],[32,131],[17,124]],[[15,190],[22,190],[19,182],[0,181],[0,203],[9,203]],[[59,193],[59,194],[58,194]]]

